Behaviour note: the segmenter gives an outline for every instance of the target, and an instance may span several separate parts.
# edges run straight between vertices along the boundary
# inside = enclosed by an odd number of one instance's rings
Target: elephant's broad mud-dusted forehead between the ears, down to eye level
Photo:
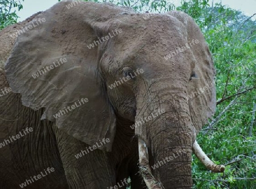
[[[172,75],[174,79],[183,76],[187,78],[190,75],[191,62],[195,60],[187,44],[184,23],[174,16],[163,14],[154,14],[150,20],[143,19],[143,14],[126,15],[118,19],[118,23],[122,32],[116,36],[112,48],[106,51],[113,54],[110,58],[112,61],[106,62],[118,62],[111,64],[112,68],[131,65],[135,69],[143,69],[142,75],[148,78],[154,78],[158,73],[168,77]],[[177,47],[186,47],[184,52],[180,53],[183,56],[166,60],[164,57],[176,52]],[[182,70],[182,73],[174,72],[178,69]]]

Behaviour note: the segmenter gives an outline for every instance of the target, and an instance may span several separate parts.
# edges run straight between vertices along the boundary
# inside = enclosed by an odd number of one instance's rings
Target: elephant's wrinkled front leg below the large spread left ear
[[[98,189],[115,185],[115,170],[109,153],[86,150],[89,145],[55,128],[57,145],[69,188]],[[82,154],[81,150],[86,150]],[[89,153],[88,153],[89,152]],[[81,157],[75,157],[77,154]]]

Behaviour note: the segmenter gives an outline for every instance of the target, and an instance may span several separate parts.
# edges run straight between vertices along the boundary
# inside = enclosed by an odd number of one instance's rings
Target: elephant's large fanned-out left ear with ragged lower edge
[[[45,108],[42,119],[56,121],[86,144],[109,138],[99,149],[111,151],[115,114],[97,66],[100,45],[94,41],[108,35],[109,20],[123,9],[76,3],[59,2],[27,24],[6,62],[6,75],[24,106]]]

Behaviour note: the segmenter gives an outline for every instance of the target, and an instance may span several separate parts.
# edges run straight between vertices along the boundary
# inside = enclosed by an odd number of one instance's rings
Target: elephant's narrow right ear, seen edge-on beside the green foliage
[[[192,64],[195,64],[191,72],[191,81],[188,84],[187,99],[192,124],[198,133],[216,111],[216,88],[214,85],[216,72],[212,55],[203,33],[190,16],[180,11],[171,11],[167,14],[175,16],[187,28],[186,31],[183,31],[183,35],[191,50]],[[192,41],[196,41],[196,43],[192,43]]]

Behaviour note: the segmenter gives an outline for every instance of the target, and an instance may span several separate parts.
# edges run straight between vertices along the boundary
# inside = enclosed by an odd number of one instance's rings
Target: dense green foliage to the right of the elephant
[[[212,52],[218,104],[214,118],[223,114],[197,138],[210,159],[218,164],[234,163],[224,174],[216,174],[193,158],[195,188],[256,188],[256,24],[221,4],[203,6],[195,8],[195,14],[187,7],[184,11],[195,15]]]

